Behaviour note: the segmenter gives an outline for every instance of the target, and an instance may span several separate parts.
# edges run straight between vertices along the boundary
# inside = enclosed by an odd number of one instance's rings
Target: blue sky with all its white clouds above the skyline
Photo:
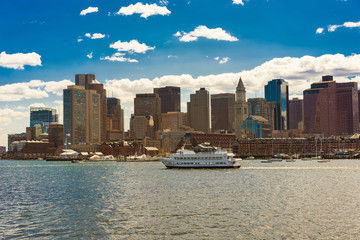
[[[57,109],[75,74],[91,73],[121,100],[200,87],[264,97],[274,78],[290,98],[322,75],[360,83],[359,0],[1,0],[0,145],[25,132],[30,106]]]

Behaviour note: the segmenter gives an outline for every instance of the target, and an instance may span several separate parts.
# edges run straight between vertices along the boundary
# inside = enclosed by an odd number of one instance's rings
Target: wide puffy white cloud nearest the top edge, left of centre
[[[133,15],[133,14],[141,14],[140,17],[148,18],[153,15],[170,15],[169,9],[166,6],[158,6],[156,3],[145,5],[141,2],[129,5],[128,7],[121,7],[120,10],[116,13],[117,15]]]

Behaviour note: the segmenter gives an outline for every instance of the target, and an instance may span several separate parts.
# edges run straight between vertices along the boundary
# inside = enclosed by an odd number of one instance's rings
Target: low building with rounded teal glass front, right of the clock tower
[[[248,138],[267,138],[271,137],[269,120],[251,115],[247,117],[242,125]]]

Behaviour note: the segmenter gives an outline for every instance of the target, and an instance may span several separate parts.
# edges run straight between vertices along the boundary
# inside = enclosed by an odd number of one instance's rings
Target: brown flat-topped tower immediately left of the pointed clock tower
[[[211,95],[211,131],[234,131],[235,94],[220,93]]]

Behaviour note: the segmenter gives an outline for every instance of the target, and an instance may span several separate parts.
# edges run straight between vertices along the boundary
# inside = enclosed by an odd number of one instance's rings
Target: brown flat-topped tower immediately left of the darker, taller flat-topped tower
[[[152,116],[154,131],[161,130],[161,100],[159,94],[136,94],[134,99],[135,116]]]

